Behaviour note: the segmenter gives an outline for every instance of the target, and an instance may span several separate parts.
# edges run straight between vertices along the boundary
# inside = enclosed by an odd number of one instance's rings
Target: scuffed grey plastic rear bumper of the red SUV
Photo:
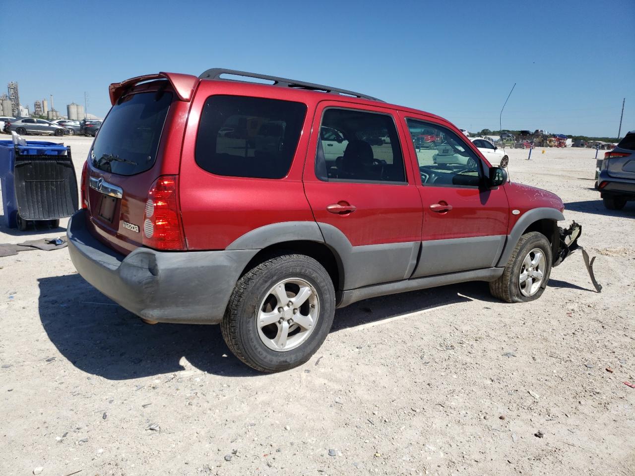
[[[124,256],[90,234],[83,210],[70,219],[67,237],[70,259],[86,281],[133,314],[158,322],[218,324],[258,252],[137,248]]]

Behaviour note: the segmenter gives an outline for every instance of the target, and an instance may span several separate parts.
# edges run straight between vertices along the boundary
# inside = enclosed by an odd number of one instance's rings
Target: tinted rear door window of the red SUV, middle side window
[[[406,182],[392,116],[326,109],[316,153],[320,180]]]

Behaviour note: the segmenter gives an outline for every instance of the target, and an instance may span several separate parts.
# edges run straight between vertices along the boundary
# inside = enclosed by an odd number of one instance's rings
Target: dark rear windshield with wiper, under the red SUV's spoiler
[[[93,144],[93,166],[119,175],[134,175],[152,168],[171,102],[172,93],[164,91],[138,93],[119,100],[110,109]]]

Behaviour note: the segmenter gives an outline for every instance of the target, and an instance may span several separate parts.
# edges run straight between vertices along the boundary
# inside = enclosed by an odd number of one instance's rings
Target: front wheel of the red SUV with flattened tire
[[[544,258],[544,261],[538,260],[540,266],[535,267],[536,272],[540,271],[542,273],[542,279],[538,283],[537,277],[530,277],[531,289],[528,289],[528,281],[525,281],[525,288],[523,288],[520,277],[521,272],[526,267],[526,258],[530,258],[532,263],[533,259],[536,258],[536,254],[533,251],[542,252],[542,257]],[[496,281],[490,282],[490,293],[495,298],[508,303],[523,303],[536,300],[542,296],[545,288],[547,288],[552,262],[551,244],[547,237],[538,232],[526,233],[516,243],[516,247],[512,251],[512,255],[509,256],[509,261],[505,265],[502,276]]]

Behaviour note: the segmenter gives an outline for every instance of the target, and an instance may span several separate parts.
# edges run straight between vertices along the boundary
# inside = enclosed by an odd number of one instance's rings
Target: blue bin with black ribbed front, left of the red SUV
[[[28,221],[57,220],[77,210],[77,179],[70,147],[0,140],[0,187],[4,225],[25,229]]]

